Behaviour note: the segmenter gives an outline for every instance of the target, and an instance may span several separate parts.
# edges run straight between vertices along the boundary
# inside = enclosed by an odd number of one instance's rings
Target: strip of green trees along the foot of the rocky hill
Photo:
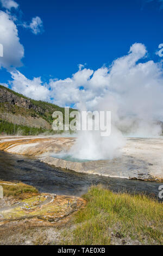
[[[45,129],[8,123],[0,119],[0,135],[39,135],[46,132]]]

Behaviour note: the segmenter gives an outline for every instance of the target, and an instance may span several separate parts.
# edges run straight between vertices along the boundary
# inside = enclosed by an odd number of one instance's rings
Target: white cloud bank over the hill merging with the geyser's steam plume
[[[60,106],[74,105],[80,110],[111,111],[111,136],[98,132],[79,134],[72,154],[81,159],[111,159],[128,136],[160,136],[163,121],[162,63],[147,60],[145,45],[135,43],[126,56],[96,71],[79,65],[71,78],[41,83],[41,78],[27,80],[13,73],[11,85],[17,92],[35,99],[49,100]],[[141,61],[142,60],[142,61]],[[35,90],[37,95],[35,95]]]

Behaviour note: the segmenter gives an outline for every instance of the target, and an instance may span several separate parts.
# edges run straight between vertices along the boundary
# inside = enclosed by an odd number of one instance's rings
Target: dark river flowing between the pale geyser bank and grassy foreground
[[[13,155],[0,151],[0,179],[22,181],[40,192],[81,196],[91,185],[102,184],[114,192],[146,193],[158,197],[158,182],[108,178],[76,173],[48,166],[34,157]]]

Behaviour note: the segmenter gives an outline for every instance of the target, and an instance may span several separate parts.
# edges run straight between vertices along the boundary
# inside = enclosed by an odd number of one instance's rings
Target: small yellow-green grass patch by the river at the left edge
[[[23,184],[22,182],[11,184],[10,182],[2,181],[0,185],[3,187],[3,196],[5,197],[18,196],[21,193],[38,193],[35,187]]]

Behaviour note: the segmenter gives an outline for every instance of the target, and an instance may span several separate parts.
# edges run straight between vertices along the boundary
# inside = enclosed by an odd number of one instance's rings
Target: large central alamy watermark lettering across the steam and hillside
[[[54,131],[100,131],[102,137],[111,133],[110,111],[71,111],[65,107],[65,115],[55,111],[52,115]]]

